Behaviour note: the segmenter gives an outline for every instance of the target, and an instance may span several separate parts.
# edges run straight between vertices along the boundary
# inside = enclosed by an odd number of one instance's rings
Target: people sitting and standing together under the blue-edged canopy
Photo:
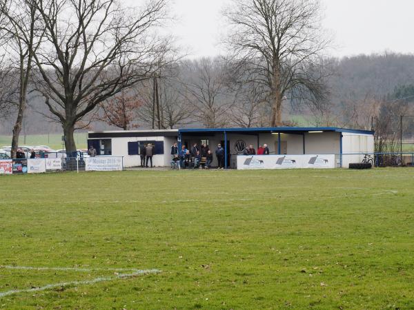
[[[264,144],[260,145],[257,149],[257,153],[253,145],[249,145],[243,151],[244,155],[268,155],[270,154],[268,146]],[[181,169],[211,169],[211,163],[213,163],[213,156],[217,158],[217,169],[224,169],[224,147],[219,143],[213,151],[206,145],[206,143],[200,146],[194,143],[190,149],[186,145],[182,145],[181,149],[178,149],[177,143],[174,143],[171,147],[171,167],[179,167]]]

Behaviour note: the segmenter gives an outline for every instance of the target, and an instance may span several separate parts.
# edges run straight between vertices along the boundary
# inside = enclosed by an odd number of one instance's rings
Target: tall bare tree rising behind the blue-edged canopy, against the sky
[[[268,87],[272,126],[282,125],[285,99],[315,103],[325,95],[324,81],[315,75],[328,44],[319,12],[319,0],[233,0],[224,12],[234,59],[242,68],[250,64],[256,81]]]

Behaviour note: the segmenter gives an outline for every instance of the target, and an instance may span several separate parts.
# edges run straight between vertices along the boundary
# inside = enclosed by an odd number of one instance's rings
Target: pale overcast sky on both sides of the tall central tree
[[[172,34],[190,56],[215,56],[228,0],[175,0]],[[333,34],[333,56],[414,52],[414,0],[322,0],[324,27]]]

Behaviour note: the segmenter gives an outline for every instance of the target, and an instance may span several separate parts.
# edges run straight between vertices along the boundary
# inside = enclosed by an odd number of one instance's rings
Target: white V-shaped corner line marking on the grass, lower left
[[[66,267],[25,267],[25,266],[0,266],[0,268],[4,269],[22,269],[22,270],[61,270],[61,271],[81,271],[81,272],[88,272],[88,271],[133,271],[131,273],[119,273],[115,276],[108,276],[108,277],[99,277],[92,280],[82,280],[82,281],[71,281],[71,282],[61,282],[61,283],[52,283],[49,285],[45,285],[43,287],[33,287],[32,289],[12,289],[10,291],[3,291],[0,292],[0,298],[4,296],[9,296],[16,293],[31,293],[34,291],[46,291],[47,289],[55,289],[57,287],[68,287],[71,285],[93,285],[98,282],[108,282],[113,280],[119,280],[124,278],[132,278],[136,276],[144,276],[146,274],[150,273],[160,273],[161,270],[159,269],[147,269],[147,270],[141,270],[141,269],[102,269],[102,268],[66,268]]]

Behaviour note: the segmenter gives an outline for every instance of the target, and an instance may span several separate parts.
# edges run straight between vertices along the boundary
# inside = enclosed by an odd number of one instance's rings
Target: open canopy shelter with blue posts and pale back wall
[[[373,136],[370,130],[337,127],[255,127],[255,128],[188,128],[178,130],[179,147],[208,141],[210,148],[221,143],[225,149],[225,167],[231,155],[241,154],[247,145],[267,144],[273,154],[340,154],[343,136]]]

